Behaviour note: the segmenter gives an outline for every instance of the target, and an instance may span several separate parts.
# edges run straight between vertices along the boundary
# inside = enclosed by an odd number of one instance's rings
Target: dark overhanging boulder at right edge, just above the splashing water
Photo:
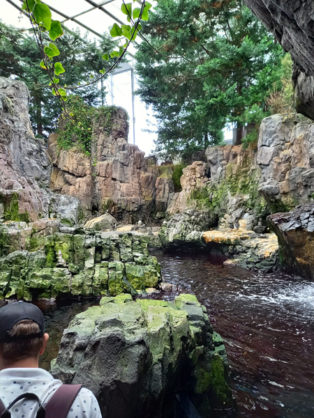
[[[314,204],[269,217],[276,232],[283,267],[314,279]]]

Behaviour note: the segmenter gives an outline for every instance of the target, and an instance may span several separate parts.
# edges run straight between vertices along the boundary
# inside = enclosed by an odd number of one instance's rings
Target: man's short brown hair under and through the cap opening
[[[27,339],[28,335],[38,332],[40,332],[38,324],[30,319],[20,320],[13,325],[8,334],[17,340],[10,343],[0,343],[2,359],[6,362],[16,362],[28,357],[38,357],[40,349],[43,347],[43,337]]]

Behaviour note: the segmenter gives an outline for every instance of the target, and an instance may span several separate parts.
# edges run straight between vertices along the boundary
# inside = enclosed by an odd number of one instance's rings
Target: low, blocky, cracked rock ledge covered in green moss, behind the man
[[[98,232],[40,219],[0,227],[0,300],[142,293],[158,286],[149,235]]]

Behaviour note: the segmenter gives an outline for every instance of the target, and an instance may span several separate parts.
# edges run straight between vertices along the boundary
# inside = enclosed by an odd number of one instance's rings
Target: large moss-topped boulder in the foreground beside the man
[[[103,297],[63,332],[52,374],[84,382],[103,418],[181,418],[178,401],[208,418],[212,409],[232,408],[223,340],[193,295]]]

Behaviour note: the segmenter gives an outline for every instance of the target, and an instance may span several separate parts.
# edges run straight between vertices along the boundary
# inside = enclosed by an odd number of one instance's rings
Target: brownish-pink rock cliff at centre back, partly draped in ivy
[[[80,200],[87,217],[110,210],[119,221],[132,224],[149,215],[165,212],[167,196],[173,192],[171,176],[160,175],[144,153],[128,144],[128,122],[124,109],[112,114],[112,129],[104,129],[104,116],[94,119],[91,157],[75,146],[59,150],[57,134],[49,137],[52,158],[50,187]]]

